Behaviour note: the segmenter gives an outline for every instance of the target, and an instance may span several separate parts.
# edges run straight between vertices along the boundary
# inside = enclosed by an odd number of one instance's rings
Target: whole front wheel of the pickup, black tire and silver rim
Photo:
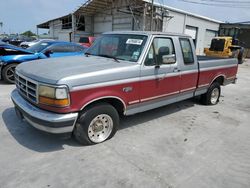
[[[108,103],[99,103],[88,107],[81,113],[73,134],[83,145],[99,144],[112,138],[118,126],[117,110]]]

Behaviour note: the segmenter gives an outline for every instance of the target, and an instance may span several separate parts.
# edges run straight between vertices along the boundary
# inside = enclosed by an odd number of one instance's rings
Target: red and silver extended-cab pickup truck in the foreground
[[[115,134],[119,115],[195,96],[217,104],[237,70],[237,59],[197,57],[187,35],[109,32],[85,56],[17,66],[11,98],[17,115],[35,128],[96,144]]]

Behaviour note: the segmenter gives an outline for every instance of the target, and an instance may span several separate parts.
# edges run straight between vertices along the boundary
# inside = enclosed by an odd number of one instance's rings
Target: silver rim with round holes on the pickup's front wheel
[[[113,120],[107,114],[96,116],[89,125],[88,137],[94,143],[105,141],[113,130]]]

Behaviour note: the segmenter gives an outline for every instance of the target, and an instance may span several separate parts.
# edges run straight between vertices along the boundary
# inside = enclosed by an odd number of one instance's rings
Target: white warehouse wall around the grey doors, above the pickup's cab
[[[167,21],[164,20],[163,31],[185,33],[186,26],[197,28],[197,39],[196,39],[196,53],[202,55],[204,48],[207,47],[206,30],[218,31],[219,23],[205,20],[202,18],[186,15],[179,12],[169,11],[169,16],[173,16],[172,19]]]

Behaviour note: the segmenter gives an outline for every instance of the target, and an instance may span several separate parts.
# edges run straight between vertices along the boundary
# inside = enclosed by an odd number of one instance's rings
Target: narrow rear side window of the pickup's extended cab
[[[180,39],[181,50],[183,55],[184,64],[193,64],[194,63],[194,56],[192,46],[190,44],[189,39]]]

